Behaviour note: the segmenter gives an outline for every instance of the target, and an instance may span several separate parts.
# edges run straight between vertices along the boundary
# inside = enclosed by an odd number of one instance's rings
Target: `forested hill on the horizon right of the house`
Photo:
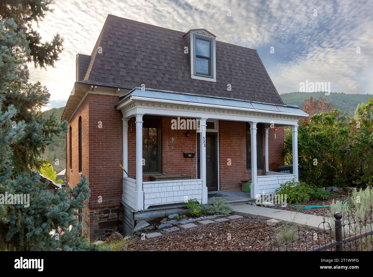
[[[320,97],[326,97],[326,102],[335,105],[335,108],[342,113],[349,113],[351,117],[354,116],[357,104],[362,102],[368,103],[369,98],[373,97],[373,94],[346,94],[332,92],[330,95],[325,95],[325,92],[291,92],[280,94],[282,101],[286,104],[297,105],[302,108],[304,104],[304,99],[309,99],[311,96],[314,99],[319,99]]]

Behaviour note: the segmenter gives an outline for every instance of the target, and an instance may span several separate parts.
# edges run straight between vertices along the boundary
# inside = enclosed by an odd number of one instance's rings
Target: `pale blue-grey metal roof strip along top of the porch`
[[[151,94],[149,93],[151,91]],[[271,112],[285,112],[285,113],[297,113],[299,116],[308,116],[307,113],[302,111],[298,106],[295,105],[286,105],[286,104],[273,104],[273,103],[263,103],[256,102],[251,100],[240,100],[232,99],[225,97],[213,97],[206,96],[201,94],[192,94],[192,93],[181,93],[176,91],[167,91],[167,90],[158,90],[152,88],[146,88],[142,90],[140,87],[135,87],[128,92],[120,101],[115,105],[119,105],[128,97],[137,96],[137,97],[147,97],[154,99],[164,99],[171,101],[181,101],[181,102],[192,102],[199,104],[209,104],[209,105],[219,105],[219,106],[229,106],[237,108],[248,108],[253,110],[263,110]]]

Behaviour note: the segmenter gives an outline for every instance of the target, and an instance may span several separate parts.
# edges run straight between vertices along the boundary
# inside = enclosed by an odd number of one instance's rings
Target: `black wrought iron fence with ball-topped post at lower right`
[[[272,251],[373,251],[373,209],[363,218],[340,212],[319,224],[317,230],[297,226],[291,239],[269,236]],[[334,221],[334,222],[333,222]]]

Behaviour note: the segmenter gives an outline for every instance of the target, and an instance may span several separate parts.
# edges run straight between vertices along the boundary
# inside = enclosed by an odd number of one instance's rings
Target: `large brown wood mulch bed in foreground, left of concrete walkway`
[[[308,228],[300,228],[300,241],[285,246],[278,246],[276,232],[283,226],[270,226],[266,220],[243,217],[236,220],[216,222],[202,225],[194,222],[197,227],[167,233],[160,231],[162,236],[141,239],[134,237],[122,251],[270,251],[270,250],[309,250],[318,245],[330,242],[330,237],[315,236]],[[298,229],[295,228],[298,234]],[[297,234],[295,237],[297,237]],[[304,237],[307,237],[307,247]],[[311,241],[313,241],[311,243]],[[273,249],[274,248],[274,249]]]

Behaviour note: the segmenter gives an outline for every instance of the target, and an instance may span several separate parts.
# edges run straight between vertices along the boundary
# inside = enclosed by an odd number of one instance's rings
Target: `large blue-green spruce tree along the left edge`
[[[26,38],[13,19],[0,22],[0,250],[89,250],[78,237],[77,211],[90,197],[86,178],[52,195],[36,173],[44,147],[67,122],[40,116],[49,94],[28,83]],[[15,203],[9,194],[26,197]]]

